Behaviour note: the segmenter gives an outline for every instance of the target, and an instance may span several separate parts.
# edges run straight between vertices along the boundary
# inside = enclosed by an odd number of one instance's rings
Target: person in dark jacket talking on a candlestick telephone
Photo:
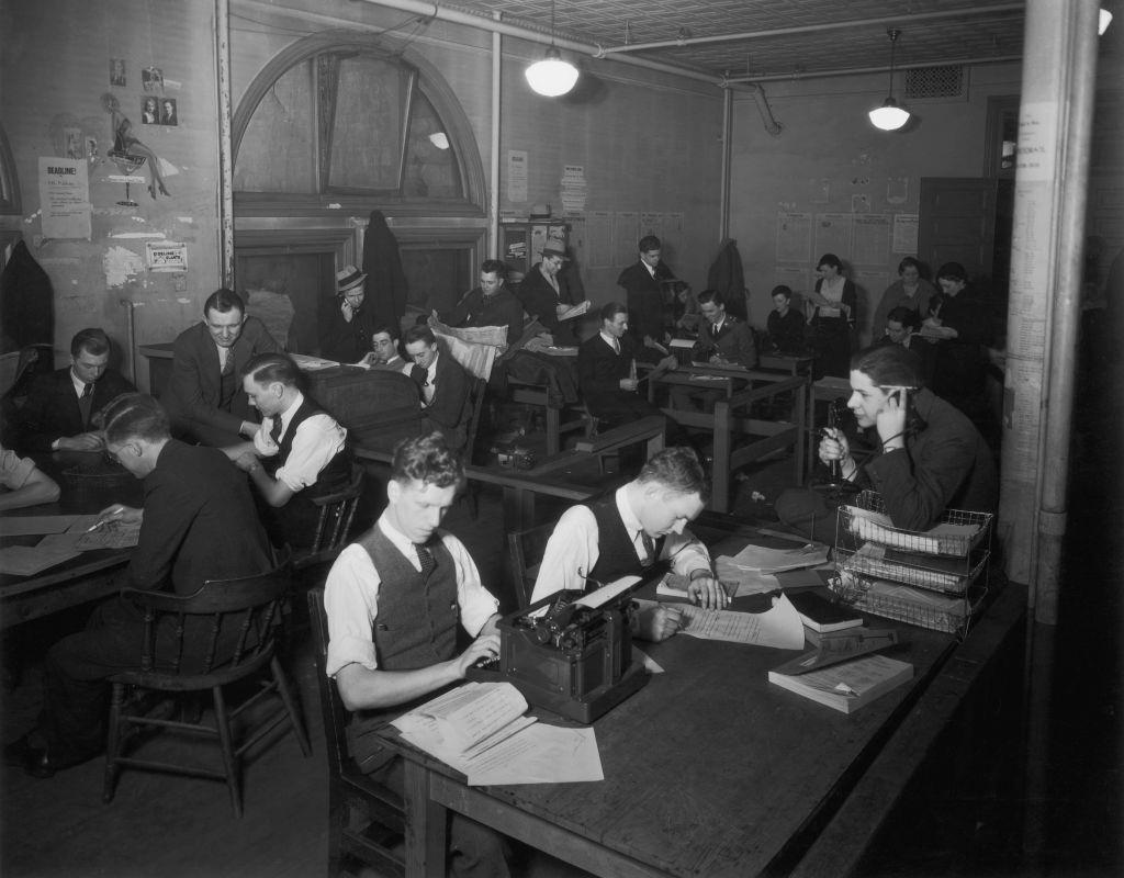
[[[894,526],[910,531],[932,527],[945,509],[990,513],[997,501],[987,443],[959,409],[923,387],[921,371],[916,354],[899,345],[856,353],[847,408],[860,428],[873,431],[874,453],[859,467],[837,427],[819,442],[824,464],[839,461],[845,481],[881,494]],[[790,489],[777,499],[777,515],[813,538],[831,540],[841,496]]]

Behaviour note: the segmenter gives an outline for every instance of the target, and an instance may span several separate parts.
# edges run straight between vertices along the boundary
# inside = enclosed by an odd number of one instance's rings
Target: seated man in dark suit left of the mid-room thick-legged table
[[[628,309],[610,301],[601,308],[601,331],[578,349],[578,386],[589,414],[608,427],[636,418],[662,414],[636,392],[640,386],[633,372],[633,361],[659,362],[674,369],[676,357],[659,355],[650,347],[636,347],[628,333]]]

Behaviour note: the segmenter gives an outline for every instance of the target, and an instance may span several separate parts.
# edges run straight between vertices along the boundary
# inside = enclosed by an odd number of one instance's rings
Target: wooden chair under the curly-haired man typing
[[[344,857],[354,857],[380,875],[406,875],[402,839],[406,806],[401,796],[373,781],[347,753],[347,709],[326,672],[328,619],[324,589],[308,592],[316,679],[328,751],[328,876],[341,874]]]

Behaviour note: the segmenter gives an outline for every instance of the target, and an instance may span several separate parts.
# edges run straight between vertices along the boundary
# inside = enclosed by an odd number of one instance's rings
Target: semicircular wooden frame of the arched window
[[[378,208],[388,215],[408,217],[463,217],[486,216],[487,181],[480,151],[468,116],[460,101],[439,71],[411,48],[386,36],[353,30],[325,30],[305,37],[274,56],[254,78],[238,102],[232,126],[234,163],[237,165],[238,148],[243,135],[273,84],[298,64],[325,53],[362,52],[384,61],[407,65],[417,71],[417,90],[430,102],[446,127],[453,145],[453,155],[464,187],[463,198],[405,198],[392,193],[341,193],[341,192],[243,192],[235,191],[235,212],[238,216],[278,216],[308,212],[310,210],[368,211]],[[338,208],[328,208],[328,203]]]

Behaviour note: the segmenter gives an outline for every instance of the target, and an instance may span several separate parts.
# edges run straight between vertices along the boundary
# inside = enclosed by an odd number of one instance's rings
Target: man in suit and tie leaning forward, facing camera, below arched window
[[[172,381],[164,399],[176,436],[226,447],[251,438],[257,418],[238,373],[257,354],[279,353],[265,325],[246,316],[242,297],[221,288],[203,302],[203,322],[184,329],[172,347]]]

